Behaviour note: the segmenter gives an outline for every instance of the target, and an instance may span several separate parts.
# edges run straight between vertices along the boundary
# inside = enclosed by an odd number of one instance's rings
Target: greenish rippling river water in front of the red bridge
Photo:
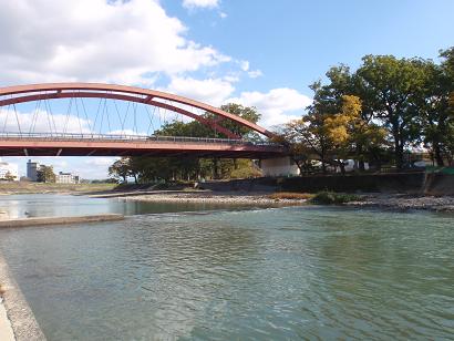
[[[74,200],[146,214],[0,230],[49,340],[454,335],[452,215]]]

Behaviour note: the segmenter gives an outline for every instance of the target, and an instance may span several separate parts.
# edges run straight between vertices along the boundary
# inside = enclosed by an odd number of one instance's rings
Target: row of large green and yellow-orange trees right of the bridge
[[[438,166],[454,159],[454,48],[440,52],[440,63],[422,58],[365,55],[352,71],[340,64],[327,82],[310,85],[307,115],[280,127],[277,140],[289,146],[302,172],[313,161],[343,172],[347,158],[363,170],[409,166],[405,152],[429,151]]]

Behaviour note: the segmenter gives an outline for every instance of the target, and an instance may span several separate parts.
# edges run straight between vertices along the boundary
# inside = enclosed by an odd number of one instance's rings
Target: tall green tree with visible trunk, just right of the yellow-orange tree
[[[424,86],[424,68],[420,59],[393,55],[365,55],[357,71],[370,101],[373,116],[389,130],[398,168],[404,166],[404,148],[417,137],[417,112],[412,96]]]

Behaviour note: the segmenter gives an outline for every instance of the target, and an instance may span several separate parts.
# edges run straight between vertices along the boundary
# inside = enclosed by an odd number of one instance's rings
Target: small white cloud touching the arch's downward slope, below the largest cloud
[[[219,106],[234,93],[235,87],[225,79],[173,78],[166,91]]]

